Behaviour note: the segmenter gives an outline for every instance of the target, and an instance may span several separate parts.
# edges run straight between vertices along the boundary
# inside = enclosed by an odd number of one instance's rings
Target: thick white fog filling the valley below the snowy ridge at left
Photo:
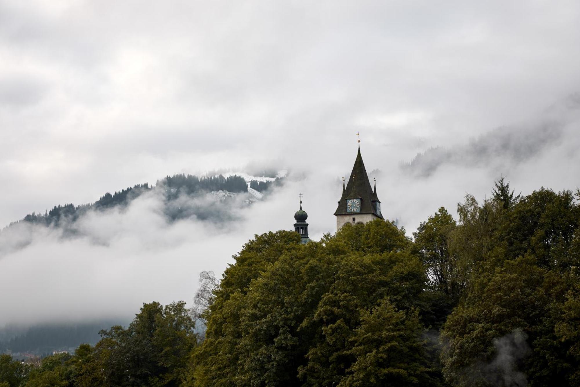
[[[281,228],[277,216],[256,219],[280,212],[276,199],[253,205],[247,200],[245,194],[183,196],[181,205],[215,208],[227,213],[227,221],[170,221],[164,198],[152,191],[125,208],[86,212],[74,222],[74,235],[63,236],[66,226],[10,227],[2,238],[8,246],[0,257],[0,293],[11,296],[0,299],[0,326],[126,320],[143,302],[190,301],[200,271],[222,273],[255,232]]]

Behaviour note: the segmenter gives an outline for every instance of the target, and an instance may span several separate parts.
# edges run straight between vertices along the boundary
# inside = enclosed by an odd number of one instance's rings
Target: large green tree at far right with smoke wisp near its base
[[[494,213],[483,259],[472,261],[477,275],[445,323],[449,382],[509,385],[518,375],[531,386],[577,384],[578,211],[570,191],[540,189]],[[464,235],[466,245],[482,239]],[[498,361],[506,356],[507,368]]]

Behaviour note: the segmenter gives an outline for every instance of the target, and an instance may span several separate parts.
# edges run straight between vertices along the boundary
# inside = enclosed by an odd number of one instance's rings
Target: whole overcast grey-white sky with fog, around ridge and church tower
[[[167,174],[291,171],[226,229],[167,224],[147,196],[84,218],[107,243],[32,231],[0,257],[0,292],[28,289],[0,324],[191,300],[199,271],[292,227],[298,192],[313,238],[334,231],[357,131],[409,233],[502,174],[575,189],[579,25],[576,0],[0,0],[0,225]]]

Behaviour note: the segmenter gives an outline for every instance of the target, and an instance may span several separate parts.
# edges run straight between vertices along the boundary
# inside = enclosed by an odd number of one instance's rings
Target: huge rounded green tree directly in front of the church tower
[[[256,236],[215,292],[189,384],[338,384],[355,372],[365,310],[389,302],[418,318],[425,271],[410,248],[404,230],[382,220],[307,245],[294,232]]]

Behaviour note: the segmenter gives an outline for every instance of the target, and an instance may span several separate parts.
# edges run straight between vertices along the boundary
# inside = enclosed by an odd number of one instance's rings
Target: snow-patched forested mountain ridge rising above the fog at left
[[[54,206],[50,211],[27,214],[0,230],[0,255],[28,246],[32,228],[51,228],[60,238],[82,236],[78,221],[85,214],[124,211],[133,200],[154,197],[165,221],[194,218],[215,225],[237,219],[237,209],[250,206],[282,184],[283,176],[255,177],[245,173],[198,177],[176,174],[158,180],[154,186],[137,184],[114,193],[105,193],[96,202],[75,206],[73,203]]]

